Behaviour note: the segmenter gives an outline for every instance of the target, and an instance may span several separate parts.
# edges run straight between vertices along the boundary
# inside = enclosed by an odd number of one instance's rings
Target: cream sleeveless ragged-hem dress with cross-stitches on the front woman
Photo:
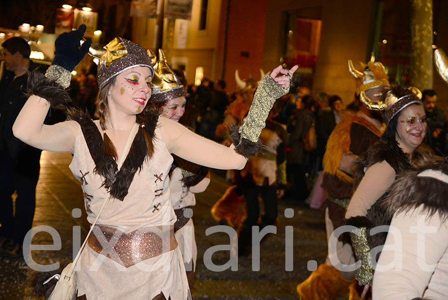
[[[154,226],[171,226],[176,221],[168,177],[173,158],[161,139],[159,125],[155,129],[152,158],[145,160],[141,170],[137,170],[123,201],[110,199],[106,203],[97,225],[130,233]],[[70,169],[82,183],[89,223],[95,220],[104,199],[109,197],[102,186],[104,178],[96,174],[94,168],[94,160],[80,127]],[[75,270],[77,295],[86,295],[87,300],[191,299],[178,247],[126,268],[86,245]]]

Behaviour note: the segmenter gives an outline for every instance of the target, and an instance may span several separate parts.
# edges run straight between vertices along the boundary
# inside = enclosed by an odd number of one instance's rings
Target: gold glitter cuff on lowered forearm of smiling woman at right
[[[361,285],[371,285],[373,279],[373,260],[370,255],[370,246],[367,242],[367,228],[356,228],[350,233],[350,236],[356,258],[361,261],[361,267],[355,270],[355,278]]]

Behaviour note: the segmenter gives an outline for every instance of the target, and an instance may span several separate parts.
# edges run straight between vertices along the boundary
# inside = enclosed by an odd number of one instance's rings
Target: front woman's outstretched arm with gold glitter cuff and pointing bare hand
[[[194,163],[217,169],[242,169],[249,156],[263,149],[261,130],[276,99],[289,91],[290,78],[297,70],[278,66],[266,75],[255,91],[247,117],[231,133],[232,145],[225,147],[196,135],[172,120],[160,118],[162,138],[171,153]],[[280,75],[280,76],[278,76]]]

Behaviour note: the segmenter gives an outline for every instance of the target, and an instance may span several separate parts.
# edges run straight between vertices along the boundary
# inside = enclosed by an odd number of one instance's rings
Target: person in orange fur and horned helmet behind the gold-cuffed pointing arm
[[[238,76],[235,76],[239,79]],[[237,80],[238,81],[238,80]],[[244,103],[250,106],[247,97],[252,94],[254,82],[249,78],[242,90],[246,102],[235,100],[227,108],[226,128],[237,124],[244,118]],[[242,85],[242,84],[241,84]],[[242,108],[242,109],[239,109]],[[271,111],[272,112],[272,111]],[[224,220],[238,231],[238,255],[247,256],[252,247],[252,226],[265,227],[272,225],[277,219],[277,194],[286,186],[286,161],[284,143],[286,130],[272,120],[273,114],[266,120],[266,127],[260,135],[261,143],[266,147],[264,153],[250,157],[246,166],[235,172],[236,185],[230,186],[223,197],[212,207],[212,216],[218,222]],[[233,120],[233,122],[231,121]],[[263,199],[264,214],[260,217],[258,195]],[[242,197],[243,196],[243,197]],[[260,219],[260,221],[259,221]]]

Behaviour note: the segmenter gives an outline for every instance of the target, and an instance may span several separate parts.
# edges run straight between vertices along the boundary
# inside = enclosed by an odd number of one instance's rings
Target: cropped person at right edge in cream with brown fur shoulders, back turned
[[[448,60],[434,52],[448,83]],[[391,229],[373,276],[373,300],[442,300],[448,295],[448,162],[408,171],[391,186],[383,206]]]

